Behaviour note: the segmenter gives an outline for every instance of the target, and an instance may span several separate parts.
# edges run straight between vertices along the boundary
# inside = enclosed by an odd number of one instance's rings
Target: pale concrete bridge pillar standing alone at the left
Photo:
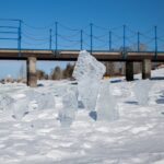
[[[36,58],[28,57],[27,58],[27,85],[31,87],[37,86],[37,75],[36,75]]]

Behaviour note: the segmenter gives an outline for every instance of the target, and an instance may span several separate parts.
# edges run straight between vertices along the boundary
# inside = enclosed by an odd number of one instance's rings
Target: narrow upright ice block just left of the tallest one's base
[[[58,119],[62,127],[69,127],[75,118],[75,110],[78,109],[78,98],[73,90],[67,89],[65,95],[61,97]]]

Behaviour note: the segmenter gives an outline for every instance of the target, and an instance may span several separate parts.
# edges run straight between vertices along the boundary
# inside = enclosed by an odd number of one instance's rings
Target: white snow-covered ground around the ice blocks
[[[109,79],[119,119],[95,121],[79,108],[70,127],[60,126],[58,110],[67,87],[77,87],[72,82],[40,81],[37,89],[1,84],[0,163],[164,164],[164,70],[152,74],[148,105],[134,96],[138,80]]]

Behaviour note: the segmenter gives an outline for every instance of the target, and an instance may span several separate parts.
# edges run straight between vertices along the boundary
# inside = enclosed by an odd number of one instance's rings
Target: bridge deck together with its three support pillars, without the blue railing
[[[0,49],[0,60],[26,60],[27,61],[27,84],[37,86],[36,61],[59,60],[75,61],[79,50],[15,50]],[[92,55],[99,61],[124,61],[126,62],[126,79],[133,80],[133,62],[142,62],[142,78],[151,78],[151,61],[163,62],[164,52],[121,52],[121,51],[93,51]]]

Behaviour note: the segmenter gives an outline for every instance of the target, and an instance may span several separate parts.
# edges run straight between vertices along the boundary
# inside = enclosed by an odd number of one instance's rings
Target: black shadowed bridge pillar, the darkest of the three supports
[[[133,81],[133,62],[126,61],[126,80]]]

